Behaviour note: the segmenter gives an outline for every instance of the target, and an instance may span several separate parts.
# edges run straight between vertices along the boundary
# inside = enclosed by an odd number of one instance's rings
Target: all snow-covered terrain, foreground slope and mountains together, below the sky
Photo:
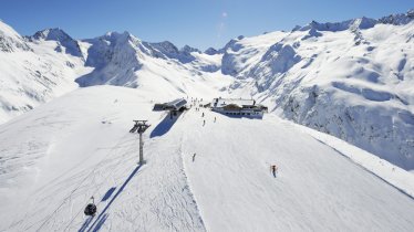
[[[0,22],[0,231],[413,231],[413,19],[312,21],[205,52]],[[269,114],[152,110],[218,96]],[[144,166],[132,119],[152,125]]]

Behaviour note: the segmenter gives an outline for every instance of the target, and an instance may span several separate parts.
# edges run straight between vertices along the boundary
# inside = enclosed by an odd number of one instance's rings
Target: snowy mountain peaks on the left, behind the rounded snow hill
[[[196,83],[197,92],[224,87],[226,77],[211,73],[219,70],[220,55],[190,46],[142,42],[128,32],[79,41],[61,29],[46,29],[23,38],[0,25],[1,123],[79,86],[164,89],[164,98],[186,96],[193,88],[186,82]]]

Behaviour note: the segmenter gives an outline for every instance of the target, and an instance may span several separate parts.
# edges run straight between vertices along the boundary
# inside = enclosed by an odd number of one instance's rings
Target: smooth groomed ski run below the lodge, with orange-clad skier
[[[183,144],[190,187],[209,231],[414,228],[412,198],[331,147],[308,139],[296,125],[271,116],[261,122],[204,112],[204,118],[201,112],[193,113],[200,119],[188,124]],[[255,130],[255,139],[249,139]],[[271,164],[279,166],[277,178]]]

